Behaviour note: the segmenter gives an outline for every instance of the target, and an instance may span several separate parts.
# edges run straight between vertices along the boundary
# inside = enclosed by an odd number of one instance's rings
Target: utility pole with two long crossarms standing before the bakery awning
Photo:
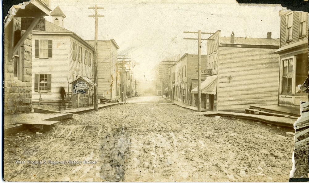
[[[184,32],[184,33],[194,33],[198,34],[198,39],[196,38],[184,38],[184,40],[198,40],[198,48],[197,48],[197,112],[201,112],[201,40],[209,40],[214,41],[214,39],[201,39],[201,34],[214,34],[209,32]]]

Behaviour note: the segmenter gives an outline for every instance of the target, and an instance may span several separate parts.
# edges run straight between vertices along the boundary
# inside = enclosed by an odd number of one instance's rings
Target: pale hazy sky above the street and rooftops
[[[215,32],[221,36],[266,38],[268,31],[279,38],[281,5],[239,5],[236,1],[98,1],[98,0],[51,0],[51,9],[59,6],[66,15],[64,28],[74,31],[85,40],[94,39],[94,10],[88,7],[104,7],[98,20],[98,40],[114,39],[118,53],[131,55],[140,63],[134,68],[135,78],[148,82],[154,78],[153,68],[164,58],[197,54],[197,42],[183,40],[197,35],[184,31]],[[187,1],[188,2],[188,1]],[[51,21],[50,17],[46,17]],[[202,38],[208,38],[204,35]],[[201,54],[206,54],[206,41],[202,42]],[[123,52],[128,48],[129,51]]]

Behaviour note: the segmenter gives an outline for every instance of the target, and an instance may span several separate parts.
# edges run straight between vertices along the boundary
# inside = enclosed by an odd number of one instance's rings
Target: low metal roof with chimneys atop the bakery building
[[[279,41],[280,39],[235,37],[234,43],[231,43],[231,37],[220,37],[220,44],[279,46]]]

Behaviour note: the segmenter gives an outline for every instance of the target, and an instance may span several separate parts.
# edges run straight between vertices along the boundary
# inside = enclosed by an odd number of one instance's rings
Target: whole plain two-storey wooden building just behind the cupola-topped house
[[[94,46],[94,40],[87,40],[87,43]],[[98,40],[98,96],[109,101],[119,98],[121,80],[116,64],[118,49],[115,40]],[[92,77],[94,78],[94,70]]]

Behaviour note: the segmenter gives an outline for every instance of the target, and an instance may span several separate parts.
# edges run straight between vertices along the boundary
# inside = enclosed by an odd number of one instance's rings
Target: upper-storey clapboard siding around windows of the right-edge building
[[[303,39],[303,37],[299,38],[299,27],[300,27],[300,12],[293,11],[293,24],[292,24],[292,41],[286,43],[286,17],[290,11],[281,12],[281,25],[280,25],[280,47],[293,44],[298,42],[299,39]],[[308,23],[305,23],[308,29]],[[306,36],[308,36],[308,32],[306,32]]]

